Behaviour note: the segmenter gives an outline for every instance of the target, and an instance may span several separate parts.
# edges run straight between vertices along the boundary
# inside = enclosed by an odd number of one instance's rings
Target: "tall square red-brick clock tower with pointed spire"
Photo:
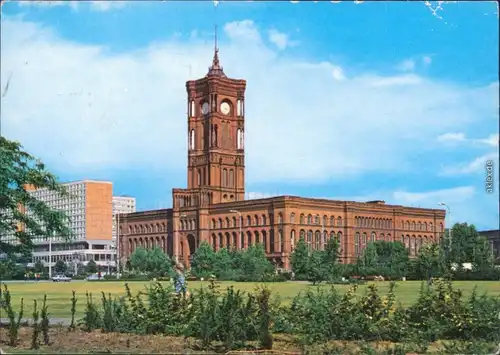
[[[245,88],[224,73],[217,42],[207,75],[186,83],[187,186],[205,191],[210,204],[245,196]]]

